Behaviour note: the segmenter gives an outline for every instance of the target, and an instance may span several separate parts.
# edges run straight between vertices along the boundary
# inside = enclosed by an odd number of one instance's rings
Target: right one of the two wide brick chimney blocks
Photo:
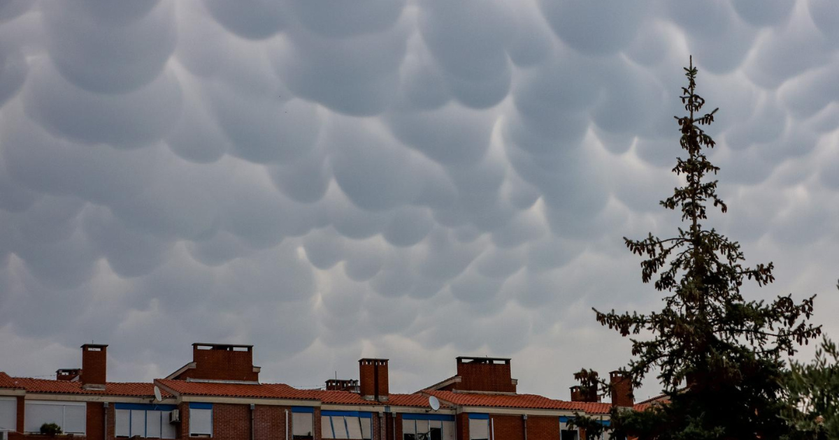
[[[456,390],[515,393],[518,380],[510,373],[509,358],[472,358],[460,356],[457,359],[457,375],[461,382]]]

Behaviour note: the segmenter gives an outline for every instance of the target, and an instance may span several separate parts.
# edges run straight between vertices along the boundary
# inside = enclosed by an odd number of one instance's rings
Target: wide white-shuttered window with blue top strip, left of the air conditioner
[[[114,404],[114,432],[117,437],[175,438],[175,425],[169,412],[175,405],[143,403]]]

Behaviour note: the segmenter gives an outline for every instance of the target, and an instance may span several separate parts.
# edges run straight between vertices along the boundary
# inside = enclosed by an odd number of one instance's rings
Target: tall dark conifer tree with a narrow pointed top
[[[708,179],[719,168],[706,157],[715,142],[703,127],[714,122],[717,109],[700,113],[705,100],[696,94],[697,73],[691,60],[680,96],[687,115],[675,118],[687,156],[676,159],[673,172],[685,185],[661,201],[667,210],[680,210],[686,226],[670,238],[624,238],[629,251],[645,258],[641,279],[664,292],[664,308],[646,314],[595,309],[597,321],[622,336],[644,334],[631,339],[628,377],[640,386],[657,370],[670,403],[648,412],[614,410],[612,424],[620,435],[640,438],[779,438],[788,431],[779,418],[781,357],[821,334],[807,322],[815,296],[801,303],[790,296],[747,301],[743,283],[773,282],[772,263],[745,266],[737,241],[703,226],[710,204],[723,213],[727,205],[717,195],[717,180]]]

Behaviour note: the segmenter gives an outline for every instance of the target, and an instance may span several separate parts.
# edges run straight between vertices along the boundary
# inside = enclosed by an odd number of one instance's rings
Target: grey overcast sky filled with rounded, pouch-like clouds
[[[689,54],[707,225],[839,336],[837,48],[834,0],[0,2],[0,370],[244,343],[263,381],[375,356],[410,392],[491,355],[567,399],[629,360],[591,307],[661,307],[622,237],[678,226]]]

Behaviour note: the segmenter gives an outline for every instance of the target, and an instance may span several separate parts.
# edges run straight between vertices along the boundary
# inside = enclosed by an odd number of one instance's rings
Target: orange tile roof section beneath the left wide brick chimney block
[[[285,384],[227,384],[170,379],[158,379],[155,382],[184,396],[317,400],[311,391],[298,390]]]

